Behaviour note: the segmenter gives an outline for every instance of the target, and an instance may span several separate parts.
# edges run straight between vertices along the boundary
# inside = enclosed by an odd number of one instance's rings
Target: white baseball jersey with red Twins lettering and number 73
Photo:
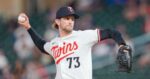
[[[44,45],[56,63],[55,79],[92,79],[92,46],[100,39],[99,30],[73,31]]]

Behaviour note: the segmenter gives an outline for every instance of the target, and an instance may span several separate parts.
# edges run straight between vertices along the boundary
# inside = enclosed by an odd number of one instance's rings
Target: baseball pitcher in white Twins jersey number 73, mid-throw
[[[131,70],[131,48],[126,45],[121,34],[111,29],[73,30],[75,19],[79,16],[70,6],[58,9],[53,27],[58,30],[59,36],[50,42],[38,36],[25,13],[19,16],[24,19],[18,20],[18,23],[28,31],[35,45],[54,58],[57,68],[55,79],[92,79],[91,49],[94,44],[105,39],[113,39],[119,45],[118,53],[121,53],[117,60],[120,70]]]

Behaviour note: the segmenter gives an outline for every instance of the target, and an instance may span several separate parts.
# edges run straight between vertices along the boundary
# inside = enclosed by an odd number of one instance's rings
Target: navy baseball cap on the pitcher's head
[[[58,9],[56,13],[56,19],[60,19],[61,17],[70,16],[70,15],[74,16],[75,19],[79,18],[79,15],[75,13],[72,7],[70,6],[61,7],[60,9]]]

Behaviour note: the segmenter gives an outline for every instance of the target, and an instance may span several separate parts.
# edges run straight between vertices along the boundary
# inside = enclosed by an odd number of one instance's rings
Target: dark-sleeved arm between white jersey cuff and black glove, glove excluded
[[[126,45],[120,32],[112,29],[100,30],[100,41],[105,39],[113,39],[119,46]]]

